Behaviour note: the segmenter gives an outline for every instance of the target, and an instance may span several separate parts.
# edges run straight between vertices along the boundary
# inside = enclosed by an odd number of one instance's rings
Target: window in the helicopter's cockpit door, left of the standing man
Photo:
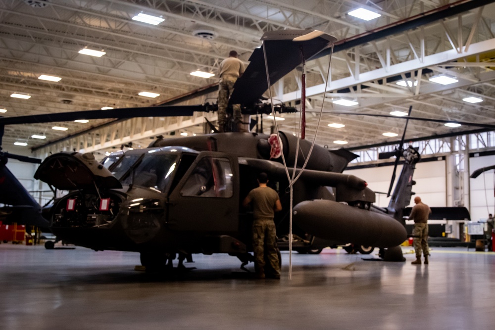
[[[183,196],[223,197],[233,195],[232,166],[228,158],[204,157],[181,189]]]

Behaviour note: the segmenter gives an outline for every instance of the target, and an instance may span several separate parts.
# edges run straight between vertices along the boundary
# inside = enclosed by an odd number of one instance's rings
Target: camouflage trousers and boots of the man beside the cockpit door
[[[255,219],[252,224],[252,247],[254,251],[254,270],[257,276],[265,275],[265,265],[272,269],[269,277],[280,277],[277,251],[277,232],[273,219]],[[265,260],[266,257],[266,260]]]

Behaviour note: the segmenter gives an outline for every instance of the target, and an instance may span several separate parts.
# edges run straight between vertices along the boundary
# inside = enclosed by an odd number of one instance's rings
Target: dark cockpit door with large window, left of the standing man
[[[201,152],[168,203],[170,230],[225,235],[239,223],[239,165],[237,157]]]

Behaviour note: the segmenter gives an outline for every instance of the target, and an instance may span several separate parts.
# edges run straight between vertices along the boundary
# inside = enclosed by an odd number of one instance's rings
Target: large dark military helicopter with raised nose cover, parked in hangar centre
[[[261,79],[263,63],[267,60],[270,78],[278,80],[301,58],[312,58],[335,40],[319,31],[265,33],[263,47],[251,55],[229,103],[241,103],[245,114],[295,111],[259,102],[271,85]],[[0,118],[0,126],[214,110],[214,106],[204,104],[79,111]],[[91,153],[64,151],[47,157],[35,179],[70,191],[51,207],[49,228],[53,234],[94,250],[139,252],[142,265],[149,271],[167,269],[177,255],[179,266],[196,253],[227,253],[238,257],[243,265],[252,260],[252,214],[242,208],[241,201],[255,188],[259,172],[268,174],[280,195],[283,211],[275,219],[280,236],[287,235],[293,215],[296,235],[379,248],[393,248],[406,239],[404,226],[397,221],[400,212],[393,208],[399,205],[399,198],[410,199],[410,193],[395,196],[397,203],[390,210],[379,209],[372,205],[375,193],[364,180],[342,174],[355,158],[353,153],[311,145],[284,132],[276,135],[277,142],[273,140],[270,135],[239,132],[157,139],[148,148],[126,151],[108,168]],[[311,148],[307,166],[301,169]],[[285,157],[287,169],[275,153]],[[414,149],[398,150],[396,156],[397,161],[400,156],[410,159],[412,168],[419,160]],[[286,173],[300,176],[292,184],[293,210]],[[409,179],[404,181],[409,192],[411,176],[404,175]]]

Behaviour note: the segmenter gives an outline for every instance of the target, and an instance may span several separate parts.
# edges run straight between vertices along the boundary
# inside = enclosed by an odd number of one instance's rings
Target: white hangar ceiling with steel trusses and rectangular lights
[[[190,75],[201,70],[216,73],[229,50],[236,49],[248,63],[265,31],[316,29],[339,40],[331,61],[331,79],[324,97],[329,55],[307,63],[308,122],[306,136],[316,131],[317,143],[349,147],[397,141],[403,120],[355,114],[405,111],[412,116],[494,124],[495,1],[481,0],[3,0],[0,2],[0,108],[3,116],[136,107],[192,95],[185,103],[216,102],[216,93],[195,91],[213,86],[217,77]],[[402,29],[404,24],[461,5],[471,9],[439,16],[431,23]],[[486,4],[480,6],[480,4]],[[349,11],[358,7],[381,14],[365,21]],[[133,20],[144,13],[160,16],[158,25]],[[390,31],[376,38],[379,31]],[[358,39],[361,37],[361,39]],[[362,40],[365,39],[365,40]],[[359,40],[356,45],[344,47]],[[362,41],[361,41],[362,40]],[[82,48],[103,50],[101,57],[80,54]],[[283,54],[281,54],[283,56]],[[62,78],[58,82],[40,75]],[[429,79],[455,78],[450,85]],[[397,83],[403,81],[403,86]],[[409,84],[409,85],[408,85]],[[295,70],[273,87],[274,98],[296,104],[300,75]],[[140,96],[147,91],[156,98]],[[11,94],[30,95],[29,99]],[[196,96],[198,95],[198,96]],[[196,96],[196,97],[195,97]],[[468,103],[476,96],[483,101]],[[342,106],[332,100],[358,102]],[[323,102],[324,101],[324,102]],[[323,105],[322,105],[323,102]],[[183,103],[183,104],[185,104]],[[89,123],[6,126],[3,148],[16,141],[40,152],[81,149],[103,150],[130,141],[145,146],[149,138],[169,134],[201,134],[204,117],[143,118]],[[295,132],[298,115],[286,114],[279,129]],[[111,125],[99,125],[111,122]],[[328,127],[339,123],[343,128]],[[67,127],[55,131],[52,126]],[[264,119],[265,133],[272,121]],[[95,128],[96,129],[91,129]],[[463,125],[410,121],[406,139],[479,130]],[[80,134],[83,132],[82,134]],[[385,137],[391,132],[398,137]],[[37,140],[32,135],[43,135]],[[70,139],[64,139],[71,136]],[[60,139],[64,139],[60,141]],[[60,141],[58,143],[49,143]]]

